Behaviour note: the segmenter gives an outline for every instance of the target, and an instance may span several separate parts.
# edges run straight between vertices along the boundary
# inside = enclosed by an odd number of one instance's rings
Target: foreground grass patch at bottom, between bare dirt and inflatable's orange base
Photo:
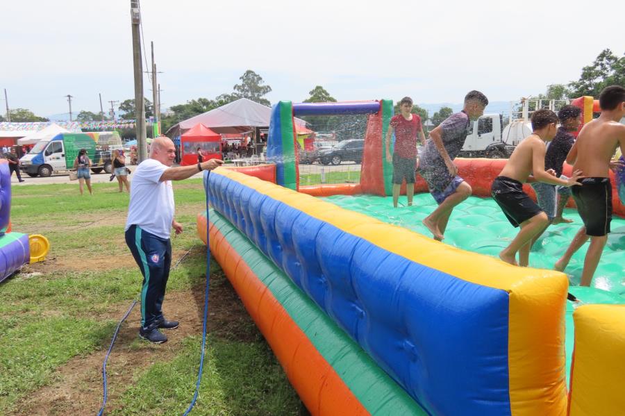
[[[197,380],[201,337],[185,340],[171,363],[156,363],[122,399],[112,415],[181,415]],[[208,338],[197,415],[297,415],[299,407],[282,368],[262,342]],[[259,389],[259,387],[261,387]]]

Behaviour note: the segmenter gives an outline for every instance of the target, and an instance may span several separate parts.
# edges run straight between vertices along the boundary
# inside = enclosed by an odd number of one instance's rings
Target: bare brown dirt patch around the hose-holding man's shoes
[[[258,340],[260,333],[251,322],[237,294],[226,277],[219,273],[211,276],[208,331],[228,340]],[[129,304],[119,304],[110,309],[110,319],[121,319]],[[117,400],[133,383],[135,374],[156,361],[172,360],[180,349],[181,340],[189,335],[201,335],[204,308],[204,286],[189,291],[167,293],[163,309],[169,319],[181,322],[173,331],[165,331],[169,340],[152,345],[135,342],[140,326],[140,304],[137,304],[119,331],[115,348],[108,361],[107,410],[119,408]],[[105,317],[102,317],[105,319]],[[113,334],[111,334],[113,335]],[[198,349],[200,345],[198,344]],[[89,356],[76,357],[59,367],[54,382],[34,392],[18,403],[15,415],[94,415],[102,401],[103,385],[101,367],[108,350],[106,347]]]

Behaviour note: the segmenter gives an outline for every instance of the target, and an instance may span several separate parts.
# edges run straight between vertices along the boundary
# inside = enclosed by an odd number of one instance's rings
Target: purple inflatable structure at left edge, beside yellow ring
[[[7,232],[11,213],[11,172],[0,160],[0,282],[31,260],[28,235]]]

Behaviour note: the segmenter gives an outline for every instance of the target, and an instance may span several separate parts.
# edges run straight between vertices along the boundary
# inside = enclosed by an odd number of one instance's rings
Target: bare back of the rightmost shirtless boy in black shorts
[[[581,169],[587,177],[607,178],[610,160],[619,146],[625,151],[625,126],[599,117],[579,133],[571,149],[576,156],[573,169]]]

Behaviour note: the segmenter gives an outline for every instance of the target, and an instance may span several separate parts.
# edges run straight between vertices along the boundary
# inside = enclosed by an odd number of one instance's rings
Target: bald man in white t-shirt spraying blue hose
[[[141,328],[139,336],[160,344],[167,341],[158,328],[178,328],[178,322],[163,316],[163,298],[172,264],[169,233],[183,227],[174,219],[172,181],[190,178],[202,170],[213,170],[223,162],[210,159],[192,166],[172,167],[176,157],[174,142],[166,137],[153,140],[150,158],[139,164],[131,183],[126,244],[143,274],[141,290]]]

